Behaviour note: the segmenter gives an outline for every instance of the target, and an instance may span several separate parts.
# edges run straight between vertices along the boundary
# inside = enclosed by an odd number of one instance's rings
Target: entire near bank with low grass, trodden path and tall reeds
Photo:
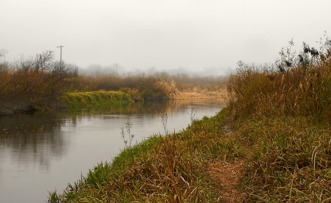
[[[271,67],[239,62],[215,116],[125,148],[49,202],[330,202],[330,39],[321,45],[288,47]]]

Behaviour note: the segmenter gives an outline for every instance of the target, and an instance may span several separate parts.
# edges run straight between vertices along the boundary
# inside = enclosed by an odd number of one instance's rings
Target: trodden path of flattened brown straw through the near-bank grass
[[[229,125],[223,126],[223,132],[229,139],[234,139]],[[242,202],[242,196],[236,189],[243,171],[243,160],[234,162],[211,163],[208,167],[210,176],[221,186],[219,202]]]

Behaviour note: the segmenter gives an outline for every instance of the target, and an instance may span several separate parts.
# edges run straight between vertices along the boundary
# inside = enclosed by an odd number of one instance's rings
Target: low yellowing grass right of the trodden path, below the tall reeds
[[[234,134],[250,149],[240,190],[247,202],[331,198],[331,130],[303,116],[243,118]],[[323,200],[323,201],[322,201]]]

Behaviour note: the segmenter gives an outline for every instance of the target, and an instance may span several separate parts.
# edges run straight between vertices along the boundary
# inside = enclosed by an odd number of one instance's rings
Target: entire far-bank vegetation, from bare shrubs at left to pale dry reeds
[[[166,72],[102,74],[54,61],[54,53],[47,51],[35,58],[22,56],[13,64],[1,62],[0,79],[0,115],[3,115],[78,104],[123,102],[127,99],[117,97],[126,97],[123,93],[134,101],[221,97],[228,77]],[[114,97],[119,100],[113,100]]]

